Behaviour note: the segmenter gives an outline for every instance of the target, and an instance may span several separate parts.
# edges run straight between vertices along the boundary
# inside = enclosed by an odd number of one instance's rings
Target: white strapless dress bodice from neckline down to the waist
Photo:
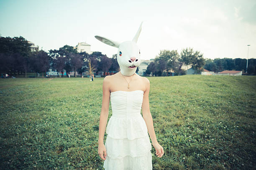
[[[112,116],[127,118],[141,116],[143,93],[143,90],[111,92]]]

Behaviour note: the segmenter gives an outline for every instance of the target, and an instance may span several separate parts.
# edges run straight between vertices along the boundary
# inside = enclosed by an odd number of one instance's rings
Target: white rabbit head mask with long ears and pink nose
[[[141,26],[142,23],[132,41],[125,41],[119,43],[106,37],[101,37],[97,35],[95,36],[97,40],[100,40],[105,44],[118,48],[117,61],[122,75],[133,75],[136,72],[137,67],[141,64],[141,52],[138,45],[136,44],[136,42],[138,41],[138,37],[141,33]]]

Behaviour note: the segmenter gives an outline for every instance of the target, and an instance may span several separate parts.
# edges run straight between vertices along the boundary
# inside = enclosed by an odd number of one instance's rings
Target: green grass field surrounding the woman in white
[[[256,76],[148,77],[154,170],[252,170]],[[1,169],[103,170],[103,78],[0,80]],[[111,105],[109,117],[111,116]],[[104,138],[104,143],[106,134]]]

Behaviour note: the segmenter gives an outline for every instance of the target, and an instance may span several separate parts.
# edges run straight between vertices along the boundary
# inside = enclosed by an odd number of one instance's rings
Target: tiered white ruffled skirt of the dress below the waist
[[[151,143],[141,115],[111,116],[106,128],[105,170],[152,170]]]

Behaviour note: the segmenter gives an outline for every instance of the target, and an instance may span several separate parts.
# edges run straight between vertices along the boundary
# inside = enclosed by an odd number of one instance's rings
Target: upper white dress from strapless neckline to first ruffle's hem
[[[133,140],[148,134],[146,122],[141,115],[143,94],[143,90],[110,93],[112,116],[106,128],[109,137]]]

